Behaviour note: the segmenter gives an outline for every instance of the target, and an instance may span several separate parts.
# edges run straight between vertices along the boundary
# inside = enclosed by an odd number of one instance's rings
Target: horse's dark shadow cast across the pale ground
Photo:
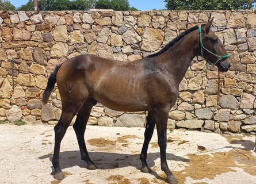
[[[140,170],[141,162],[139,154],[119,154],[112,152],[89,152],[91,160],[102,170],[108,170],[112,168],[123,168],[132,166]],[[52,154],[40,156],[39,159],[52,160]],[[155,160],[160,158],[159,152],[148,153],[147,163],[150,167],[155,166]],[[190,162],[189,159],[182,156],[175,156],[174,154],[166,154],[167,160],[175,160],[181,162]],[[160,164],[160,163],[159,163]],[[86,167],[86,163],[81,160],[79,151],[64,151],[60,152],[60,166],[62,168],[69,168],[73,166]],[[160,167],[160,165],[159,165]]]

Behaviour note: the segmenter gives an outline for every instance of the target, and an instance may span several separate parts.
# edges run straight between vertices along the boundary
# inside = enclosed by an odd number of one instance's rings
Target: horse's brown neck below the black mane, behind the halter
[[[177,77],[179,82],[184,78],[192,59],[198,54],[198,37],[193,34],[195,33],[189,33],[166,51],[165,62],[169,63],[170,74]]]

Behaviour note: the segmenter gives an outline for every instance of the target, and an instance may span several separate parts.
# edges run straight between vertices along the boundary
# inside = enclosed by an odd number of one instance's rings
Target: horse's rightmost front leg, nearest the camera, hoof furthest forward
[[[161,169],[165,171],[167,175],[167,182],[171,184],[178,183],[177,179],[171,173],[167,161],[166,161],[166,129],[167,129],[167,120],[169,114],[169,108],[156,108],[155,109],[155,121],[156,121],[156,128],[158,133],[158,145],[160,147],[160,156],[161,156]]]

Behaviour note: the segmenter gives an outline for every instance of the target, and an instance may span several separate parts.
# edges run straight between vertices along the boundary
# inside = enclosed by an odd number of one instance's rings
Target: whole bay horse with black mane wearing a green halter
[[[152,172],[146,159],[148,144],[156,125],[161,169],[167,175],[167,182],[177,183],[166,162],[166,129],[169,111],[178,97],[179,83],[195,56],[204,57],[220,71],[230,68],[230,55],[210,29],[211,25],[212,20],[207,24],[194,26],[176,37],[161,51],[135,62],[80,55],[57,66],[49,76],[42,99],[46,104],[57,82],[62,100],[62,114],[54,127],[54,178],[64,178],[59,165],[60,143],[75,114],[77,118],[73,127],[81,158],[87,163],[87,169],[97,168],[89,158],[84,134],[91,108],[100,102],[113,110],[148,112],[140,153],[141,171]]]

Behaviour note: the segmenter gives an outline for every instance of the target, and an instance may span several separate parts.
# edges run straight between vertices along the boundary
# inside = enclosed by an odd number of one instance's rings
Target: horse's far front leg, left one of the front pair
[[[144,133],[144,143],[142,147],[142,152],[140,153],[140,160],[142,161],[142,169],[141,171],[143,173],[151,173],[152,170],[150,167],[148,167],[147,164],[147,150],[148,150],[148,144],[150,143],[150,140],[152,138],[153,132],[155,128],[155,117],[152,112],[148,112],[147,116],[147,125]]]

